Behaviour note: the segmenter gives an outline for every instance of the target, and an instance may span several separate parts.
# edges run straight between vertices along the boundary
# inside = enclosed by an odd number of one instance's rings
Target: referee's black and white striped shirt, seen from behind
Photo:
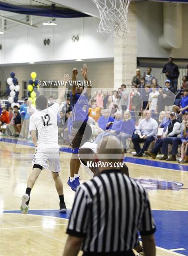
[[[155,230],[145,189],[121,171],[103,171],[78,187],[67,234],[84,238],[84,252],[127,252],[138,245],[137,231]]]

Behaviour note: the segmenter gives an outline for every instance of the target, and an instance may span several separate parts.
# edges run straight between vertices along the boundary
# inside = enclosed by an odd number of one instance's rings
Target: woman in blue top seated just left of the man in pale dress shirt
[[[127,110],[124,112],[124,117],[121,125],[120,134],[117,136],[121,140],[124,153],[127,153],[127,139],[132,137],[135,130],[134,120],[131,118],[130,112]]]

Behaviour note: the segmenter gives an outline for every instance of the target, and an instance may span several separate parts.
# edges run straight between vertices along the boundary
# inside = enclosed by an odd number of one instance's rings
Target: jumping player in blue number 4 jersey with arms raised
[[[81,69],[81,75],[84,77],[85,81],[88,82],[87,78],[87,66],[84,65]],[[88,120],[89,111],[89,99],[91,95],[91,85],[87,85],[86,91],[84,93],[84,86],[79,85],[77,81],[78,70],[73,69],[72,73],[72,92],[71,92],[71,106],[73,108],[73,125],[71,129],[71,147],[72,147],[72,157],[70,160],[70,177],[68,179],[68,185],[73,191],[76,191],[77,186],[80,185],[78,171],[80,168],[80,160],[78,158],[78,149],[82,144],[85,143],[83,133],[85,132],[85,124]],[[84,125],[82,126],[82,124]],[[88,126],[88,125],[87,125]]]

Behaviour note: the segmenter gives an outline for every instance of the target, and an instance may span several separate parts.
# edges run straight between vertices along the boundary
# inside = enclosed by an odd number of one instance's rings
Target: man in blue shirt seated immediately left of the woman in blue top
[[[121,112],[117,111],[115,113],[115,119],[112,122],[110,128],[108,130],[104,130],[102,133],[100,133],[97,138],[94,140],[94,143],[98,143],[103,136],[109,136],[109,135],[113,135],[113,136],[117,136],[120,134],[121,131],[121,124],[122,124],[122,114]]]

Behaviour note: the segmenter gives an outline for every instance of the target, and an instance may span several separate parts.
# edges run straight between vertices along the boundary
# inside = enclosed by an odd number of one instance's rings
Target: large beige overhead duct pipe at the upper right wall
[[[163,34],[159,37],[159,44],[164,49],[179,49],[182,40],[182,4],[163,3]]]

